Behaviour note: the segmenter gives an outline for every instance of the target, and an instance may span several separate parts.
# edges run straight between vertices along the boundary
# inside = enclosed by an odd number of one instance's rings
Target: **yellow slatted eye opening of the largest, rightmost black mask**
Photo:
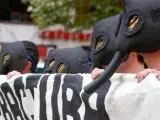
[[[128,29],[132,31],[139,22],[139,17],[137,15],[132,16],[128,22]]]

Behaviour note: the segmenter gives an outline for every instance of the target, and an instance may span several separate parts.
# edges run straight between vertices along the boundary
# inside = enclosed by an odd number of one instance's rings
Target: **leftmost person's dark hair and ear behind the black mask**
[[[26,49],[27,53],[27,64],[22,73],[35,73],[37,64],[39,62],[39,52],[38,48],[33,42],[21,41]]]

